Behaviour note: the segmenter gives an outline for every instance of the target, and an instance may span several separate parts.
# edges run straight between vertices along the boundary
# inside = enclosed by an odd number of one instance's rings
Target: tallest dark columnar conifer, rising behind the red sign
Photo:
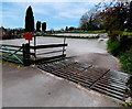
[[[26,10],[25,15],[25,32],[33,32],[34,31],[34,17],[31,6]]]

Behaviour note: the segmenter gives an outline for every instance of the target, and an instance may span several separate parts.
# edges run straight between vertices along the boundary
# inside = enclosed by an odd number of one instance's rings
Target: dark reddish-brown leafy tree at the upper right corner
[[[111,2],[99,13],[99,17],[101,17],[101,22],[107,31],[132,30],[132,1]]]

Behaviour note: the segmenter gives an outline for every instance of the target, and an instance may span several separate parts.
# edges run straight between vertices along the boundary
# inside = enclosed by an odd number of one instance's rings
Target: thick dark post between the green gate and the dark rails
[[[23,47],[23,64],[29,66],[30,63],[30,44],[22,44]]]

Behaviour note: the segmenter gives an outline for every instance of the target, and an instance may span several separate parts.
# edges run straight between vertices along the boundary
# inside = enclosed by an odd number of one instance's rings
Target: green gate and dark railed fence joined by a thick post
[[[64,52],[66,51],[65,46],[67,46],[67,44],[50,44],[50,45],[37,45],[37,46],[30,46],[29,44],[22,44],[22,46],[0,44],[0,58],[29,66],[31,64],[37,64],[48,59],[65,57],[66,56],[66,54],[64,54]],[[52,51],[46,53],[36,53],[36,52],[31,53],[31,50],[36,51],[42,48],[54,48],[54,47],[63,47],[63,50]],[[53,54],[59,52],[63,52],[63,54],[52,57],[42,57],[42,58],[36,57],[36,55],[46,55],[46,54]],[[35,59],[33,59],[32,56]]]

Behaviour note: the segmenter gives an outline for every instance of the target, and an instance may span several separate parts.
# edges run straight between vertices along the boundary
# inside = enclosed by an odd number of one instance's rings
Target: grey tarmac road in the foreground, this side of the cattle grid
[[[78,88],[34,68],[2,66],[3,107],[120,107],[110,98]]]

